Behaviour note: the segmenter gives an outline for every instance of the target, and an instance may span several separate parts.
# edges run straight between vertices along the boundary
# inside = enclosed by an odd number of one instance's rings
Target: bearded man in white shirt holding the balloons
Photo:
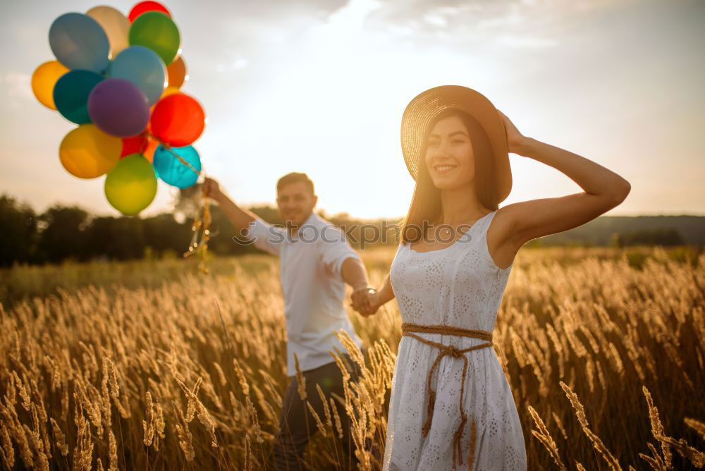
[[[314,214],[318,201],[313,182],[305,173],[288,173],[276,184],[276,203],[285,228],[272,226],[247,209],[238,207],[221,192],[218,183],[206,178],[204,192],[219,203],[223,212],[240,233],[255,239],[255,246],[278,255],[281,287],[284,294],[284,316],[287,333],[287,369],[290,378],[283,399],[280,432],[274,443],[274,462],[277,470],[299,470],[305,448],[317,430],[298,393],[295,358],[298,357],[305,378],[307,400],[323,417],[324,409],[316,384],[331,397],[341,398],[343,375],[329,350],[337,348],[344,360],[353,366],[353,381],[359,370],[345,354],[345,347],[336,332],[344,329],[362,348],[343,307],[345,283],[353,287],[353,303],[367,306],[367,271],[360,255],[348,245],[343,231]],[[364,351],[364,350],[363,350]],[[336,401],[337,403],[337,401]],[[343,420],[344,465],[354,460],[350,437],[350,420],[345,408],[338,404]]]

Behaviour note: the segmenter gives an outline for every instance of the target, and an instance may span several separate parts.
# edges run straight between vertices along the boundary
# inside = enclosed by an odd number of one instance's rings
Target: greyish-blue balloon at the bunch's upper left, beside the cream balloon
[[[64,66],[103,73],[110,63],[110,43],[96,20],[82,13],[65,13],[51,23],[49,46]]]

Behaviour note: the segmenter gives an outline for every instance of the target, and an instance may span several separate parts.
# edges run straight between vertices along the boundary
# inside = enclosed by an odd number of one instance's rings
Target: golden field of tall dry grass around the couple
[[[393,253],[364,252],[373,284]],[[704,252],[661,247],[520,251],[494,334],[529,469],[705,465],[704,267]],[[278,261],[210,268],[171,259],[2,271],[2,466],[271,467],[287,384]],[[362,357],[345,341],[360,381],[345,398],[306,400],[344,401],[360,468],[376,470],[400,315],[393,301],[350,316],[367,345]],[[312,469],[343,469],[335,410],[314,417]]]

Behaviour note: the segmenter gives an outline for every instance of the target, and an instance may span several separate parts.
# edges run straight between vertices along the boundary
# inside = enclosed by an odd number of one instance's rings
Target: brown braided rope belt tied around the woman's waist
[[[462,358],[463,365],[462,365],[462,379],[461,379],[461,384],[460,384],[460,426],[458,429],[455,431],[455,435],[453,435],[453,467],[455,467],[456,460],[458,461],[458,464],[462,465],[462,444],[460,443],[460,439],[462,437],[462,429],[465,427],[465,423],[467,422],[467,414],[465,414],[465,410],[462,408],[462,398],[465,393],[465,378],[467,377],[467,357],[465,356],[465,353],[470,352],[472,350],[479,350],[480,348],[488,348],[494,345],[492,343],[492,333],[489,331],[483,331],[483,330],[477,330],[477,329],[461,329],[460,327],[452,327],[452,326],[444,326],[444,325],[419,325],[419,324],[411,324],[408,322],[405,322],[401,324],[401,331],[402,331],[402,336],[408,336],[415,338],[417,341],[421,343],[425,343],[426,345],[431,345],[432,347],[436,347],[439,350],[441,350],[436,357],[436,360],[434,360],[434,364],[431,366],[431,369],[429,369],[429,376],[427,379],[427,384],[429,388],[429,403],[428,403],[428,410],[427,410],[427,419],[426,422],[424,423],[421,431],[424,436],[427,436],[429,433],[429,430],[431,429],[431,421],[433,420],[434,417],[434,405],[436,404],[436,391],[431,387],[431,377],[433,377],[434,374],[434,369],[438,367],[439,363],[441,362],[441,358],[445,356],[453,357],[453,358]],[[470,337],[470,338],[479,338],[481,340],[486,340],[487,343],[481,343],[479,345],[474,345],[470,348],[464,348],[460,350],[459,348],[454,347],[453,345],[443,345],[443,343],[438,343],[434,341],[429,341],[426,338],[417,336],[416,334],[413,334],[413,332],[418,332],[422,334],[443,334],[443,335],[454,335],[454,336],[462,336],[462,337]],[[472,462],[473,462],[473,453],[474,453],[474,442],[475,442],[475,433],[476,433],[476,424],[474,417],[472,418],[471,422],[471,427],[470,427],[470,457],[468,458],[467,462],[467,469],[472,470]]]

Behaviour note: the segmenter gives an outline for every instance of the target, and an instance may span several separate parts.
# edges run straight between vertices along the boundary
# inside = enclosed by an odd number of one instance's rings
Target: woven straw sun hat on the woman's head
[[[487,133],[495,159],[499,202],[512,190],[507,131],[494,105],[483,94],[459,85],[434,87],[417,95],[406,106],[401,118],[401,149],[407,169],[416,180],[423,164],[424,133],[436,116],[449,108],[460,109],[475,118]]]

